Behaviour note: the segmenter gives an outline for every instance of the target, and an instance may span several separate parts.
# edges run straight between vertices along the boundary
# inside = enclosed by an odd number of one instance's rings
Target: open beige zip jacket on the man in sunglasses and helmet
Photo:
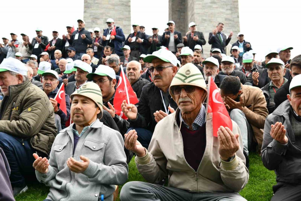
[[[230,162],[221,161],[219,140],[212,132],[212,115],[207,114],[206,149],[195,172],[184,157],[182,135],[175,118],[179,111],[177,109],[157,124],[148,152],[144,157],[135,158],[138,171],[145,180],[158,183],[168,175],[169,187],[198,193],[242,190],[249,179],[242,137],[239,136],[240,148],[236,157]],[[234,121],[232,124],[233,133],[240,134],[237,124]]]

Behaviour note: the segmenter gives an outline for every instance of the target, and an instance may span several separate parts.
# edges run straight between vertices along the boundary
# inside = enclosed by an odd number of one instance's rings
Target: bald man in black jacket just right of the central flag
[[[137,98],[140,98],[141,95],[141,91],[142,91],[142,87],[148,83],[150,83],[150,81],[144,79],[144,78],[140,78],[142,73],[141,70],[141,64],[138,61],[130,61],[127,65],[126,65],[126,75],[129,79],[129,82],[133,88],[133,90],[135,91]]]

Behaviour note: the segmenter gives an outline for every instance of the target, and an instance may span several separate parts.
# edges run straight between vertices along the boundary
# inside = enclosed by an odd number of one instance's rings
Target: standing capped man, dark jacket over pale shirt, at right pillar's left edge
[[[167,47],[172,53],[177,53],[177,45],[182,43],[181,32],[175,31],[175,22],[169,21],[167,23],[169,31],[163,33],[161,43]]]

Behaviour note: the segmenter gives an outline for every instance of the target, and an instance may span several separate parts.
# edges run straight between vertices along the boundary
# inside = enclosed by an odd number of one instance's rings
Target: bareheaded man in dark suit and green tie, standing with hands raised
[[[222,33],[224,25],[224,23],[219,22],[219,24],[216,26],[216,29],[209,33],[208,40],[208,43],[211,45],[211,49],[218,48],[223,54],[226,53],[225,47],[229,44],[231,37],[233,36],[233,32],[231,31],[229,37],[226,38],[226,35]]]

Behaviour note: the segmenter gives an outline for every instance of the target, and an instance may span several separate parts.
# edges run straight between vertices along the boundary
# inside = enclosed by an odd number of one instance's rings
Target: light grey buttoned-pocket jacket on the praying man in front
[[[46,199],[53,201],[112,201],[114,185],[121,185],[128,178],[128,165],[121,134],[101,123],[98,119],[79,138],[73,155],[72,123],[56,136],[49,158],[46,174],[36,171],[40,182],[50,186]],[[76,161],[83,155],[89,158],[88,168],[82,173],[74,173],[67,166],[67,160]]]

